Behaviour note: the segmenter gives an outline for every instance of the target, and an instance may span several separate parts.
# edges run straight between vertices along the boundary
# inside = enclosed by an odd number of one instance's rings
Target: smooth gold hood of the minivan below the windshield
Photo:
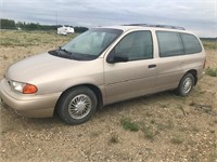
[[[35,83],[37,80],[55,76],[60,78],[62,75],[67,75],[65,72],[71,71],[69,69],[76,69],[76,67],[84,65],[84,63],[42,53],[11,65],[5,76],[14,81]]]

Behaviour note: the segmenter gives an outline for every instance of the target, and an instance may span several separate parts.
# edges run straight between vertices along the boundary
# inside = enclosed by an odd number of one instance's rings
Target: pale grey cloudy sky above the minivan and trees
[[[217,0],[0,0],[0,18],[90,28],[173,25],[217,37]]]

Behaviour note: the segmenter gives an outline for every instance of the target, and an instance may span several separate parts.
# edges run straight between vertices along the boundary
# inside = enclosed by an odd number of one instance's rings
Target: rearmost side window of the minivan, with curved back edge
[[[202,51],[201,43],[195,36],[189,33],[180,33],[183,41],[186,54],[200,53]]]

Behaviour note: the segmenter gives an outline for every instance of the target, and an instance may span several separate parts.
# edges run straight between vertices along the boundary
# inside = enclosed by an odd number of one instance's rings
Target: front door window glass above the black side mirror
[[[114,52],[116,56],[127,56],[128,60],[153,58],[151,31],[135,31],[125,36]]]

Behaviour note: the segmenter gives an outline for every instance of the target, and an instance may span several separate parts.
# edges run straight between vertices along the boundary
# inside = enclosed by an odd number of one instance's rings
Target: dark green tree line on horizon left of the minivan
[[[15,22],[13,19],[0,18],[0,29],[56,30],[61,26],[62,25],[40,25],[39,23],[25,23],[25,22]],[[84,32],[88,30],[87,27],[73,27],[73,28],[75,29],[75,32]]]

